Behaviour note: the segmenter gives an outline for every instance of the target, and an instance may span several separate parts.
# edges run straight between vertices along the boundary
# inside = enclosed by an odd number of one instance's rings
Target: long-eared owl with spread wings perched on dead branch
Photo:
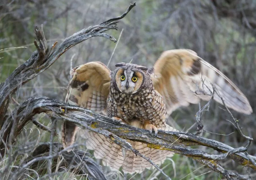
[[[147,129],[157,135],[158,129],[176,131],[166,124],[166,118],[180,106],[208,101],[213,90],[214,100],[240,113],[252,113],[252,107],[244,94],[218,69],[187,49],[164,51],[153,68],[118,63],[110,71],[101,62],[89,62],[71,70],[73,78],[68,84],[66,102],[71,105],[103,113],[115,122],[124,122],[136,128]],[[212,86],[213,85],[213,86]],[[205,93],[196,93],[200,90]],[[64,147],[75,142],[78,127],[63,122],[62,141]],[[94,156],[102,159],[105,166],[124,172],[140,173],[151,164],[124,151],[111,139],[86,130],[86,147],[94,150]],[[151,149],[146,144],[128,140],[134,149],[156,164],[162,163],[173,153]]]

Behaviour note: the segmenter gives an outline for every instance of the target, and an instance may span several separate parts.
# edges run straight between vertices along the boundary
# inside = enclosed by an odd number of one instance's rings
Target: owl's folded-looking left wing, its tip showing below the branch
[[[66,103],[84,107],[97,113],[106,113],[110,90],[110,70],[103,63],[95,61],[77,66],[70,71],[73,75],[68,83]],[[78,127],[64,121],[62,124],[63,146],[72,145]]]

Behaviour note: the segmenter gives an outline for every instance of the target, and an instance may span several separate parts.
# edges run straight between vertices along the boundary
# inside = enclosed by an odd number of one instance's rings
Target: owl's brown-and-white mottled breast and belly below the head
[[[167,116],[163,97],[156,90],[142,90],[137,94],[109,93],[108,117],[118,117],[127,124],[149,121],[161,128]],[[156,123],[157,122],[157,123]],[[138,127],[138,125],[136,125]]]

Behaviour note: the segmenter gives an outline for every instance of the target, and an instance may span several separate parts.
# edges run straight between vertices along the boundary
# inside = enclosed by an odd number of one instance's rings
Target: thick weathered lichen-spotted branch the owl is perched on
[[[133,149],[125,139],[140,141],[148,144],[148,147],[151,148],[169,150],[188,156],[208,168],[221,173],[227,179],[249,179],[246,176],[230,172],[220,165],[219,160],[227,156],[242,166],[248,166],[256,170],[256,164],[254,164],[256,157],[251,155],[247,156],[243,153],[247,150],[244,147],[234,149],[221,142],[185,132],[166,132],[159,130],[157,136],[154,138],[145,129],[138,129],[124,123],[115,124],[111,118],[87,109],[62,103],[55,99],[40,96],[29,98],[19,106],[16,112],[15,118],[19,120],[19,122],[17,123],[17,127],[15,127],[15,129],[17,129],[15,136],[19,134],[24,125],[28,123],[35,114],[44,112],[51,118],[70,121],[82,129],[89,129],[100,133],[128,150]],[[14,114],[7,118],[6,122],[9,123],[4,124],[4,129],[12,126],[12,121],[9,120],[12,119],[13,116]],[[0,131],[0,137],[7,137],[8,133],[8,131]],[[209,154],[187,147],[193,145],[207,146],[218,151],[220,154]],[[136,153],[136,150],[133,152]]]

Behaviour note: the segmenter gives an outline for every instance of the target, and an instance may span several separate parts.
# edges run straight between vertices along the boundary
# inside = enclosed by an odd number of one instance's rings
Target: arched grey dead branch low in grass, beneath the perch
[[[53,154],[49,156],[51,145]],[[79,175],[88,175],[88,179],[107,180],[101,167],[92,158],[90,153],[80,150],[67,152],[60,143],[40,143],[22,167],[13,169],[14,175],[12,179],[18,179],[28,167],[36,169],[41,175],[44,174],[45,168],[47,167],[47,160],[52,159],[51,170],[53,172],[57,168],[58,172],[75,171]],[[38,166],[43,168],[38,168]]]

